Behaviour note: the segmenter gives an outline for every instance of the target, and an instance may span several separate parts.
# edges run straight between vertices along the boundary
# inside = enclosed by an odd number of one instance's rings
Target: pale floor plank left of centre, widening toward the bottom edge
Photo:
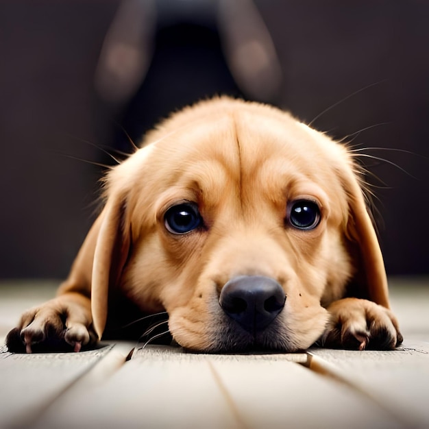
[[[241,428],[204,355],[150,346],[35,428]]]

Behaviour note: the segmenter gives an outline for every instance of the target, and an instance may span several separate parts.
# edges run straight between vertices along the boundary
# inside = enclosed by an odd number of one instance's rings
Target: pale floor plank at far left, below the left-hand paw
[[[10,354],[0,349],[0,428],[27,426],[106,356],[112,346],[81,353]]]

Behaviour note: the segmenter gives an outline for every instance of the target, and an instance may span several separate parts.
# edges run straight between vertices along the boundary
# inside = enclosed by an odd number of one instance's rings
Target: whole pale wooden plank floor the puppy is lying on
[[[0,344],[53,282],[0,283]],[[394,352],[206,355],[134,343],[76,354],[0,345],[0,428],[429,428],[429,279],[391,279]]]

